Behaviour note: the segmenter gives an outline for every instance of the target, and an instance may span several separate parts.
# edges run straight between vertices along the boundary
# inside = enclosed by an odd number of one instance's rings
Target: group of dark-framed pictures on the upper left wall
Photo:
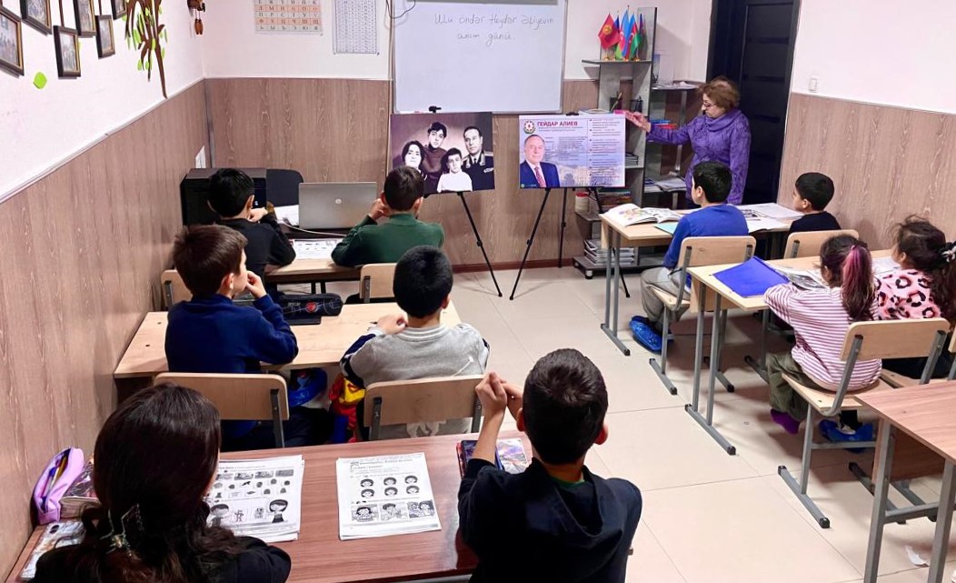
[[[23,75],[23,23],[43,34],[54,34],[56,72],[59,77],[79,77],[79,37],[97,38],[100,58],[116,54],[113,21],[126,15],[126,0],[109,0],[113,14],[97,15],[94,0],[73,0],[76,28],[54,26],[50,0],[20,0],[18,16],[0,6],[0,68]]]

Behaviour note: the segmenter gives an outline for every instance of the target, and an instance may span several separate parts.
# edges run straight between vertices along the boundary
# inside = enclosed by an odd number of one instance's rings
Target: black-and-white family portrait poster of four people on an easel
[[[494,190],[491,112],[393,115],[392,168],[424,175],[424,193]]]

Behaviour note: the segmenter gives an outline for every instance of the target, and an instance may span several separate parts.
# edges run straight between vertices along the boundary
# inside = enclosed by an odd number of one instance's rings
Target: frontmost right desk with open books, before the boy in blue
[[[620,273],[620,248],[626,247],[654,247],[657,245],[669,245],[673,238],[669,233],[657,228],[657,223],[641,223],[630,227],[622,227],[619,224],[608,220],[603,213],[601,220],[601,241],[608,250],[607,268],[604,270],[604,322],[600,328],[604,334],[611,339],[611,342],[624,353],[624,356],[630,356],[631,350],[624,346],[624,343],[618,338],[618,310],[620,303],[620,286],[617,278]],[[780,235],[790,231],[792,221],[779,221],[783,223],[778,229],[770,231],[758,231],[753,235],[767,234],[770,236]],[[622,241],[626,241],[624,245]],[[611,282],[614,281],[614,290],[611,289]]]

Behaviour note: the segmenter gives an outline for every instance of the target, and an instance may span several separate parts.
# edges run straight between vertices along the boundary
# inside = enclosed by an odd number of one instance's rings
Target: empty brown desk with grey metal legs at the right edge
[[[945,460],[943,485],[936,512],[936,536],[929,561],[927,581],[940,583],[945,573],[949,529],[952,526],[953,496],[956,495],[956,383],[906,387],[894,391],[860,394],[857,400],[880,415],[880,437],[876,460],[873,517],[866,549],[864,583],[876,583],[880,566],[880,545],[887,520],[887,494],[892,469],[894,431],[915,438]],[[919,507],[914,510],[919,511]],[[925,515],[925,514],[923,514]]]

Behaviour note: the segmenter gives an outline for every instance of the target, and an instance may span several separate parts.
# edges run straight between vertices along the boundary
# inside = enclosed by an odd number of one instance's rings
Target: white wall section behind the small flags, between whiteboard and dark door
[[[654,50],[674,63],[674,78],[703,79],[710,39],[710,0],[657,0],[632,6],[658,8]],[[565,78],[597,78],[597,67],[585,68],[581,60],[597,58],[597,33],[608,12],[617,16],[627,8],[620,0],[568,0],[568,26],[564,51]]]

